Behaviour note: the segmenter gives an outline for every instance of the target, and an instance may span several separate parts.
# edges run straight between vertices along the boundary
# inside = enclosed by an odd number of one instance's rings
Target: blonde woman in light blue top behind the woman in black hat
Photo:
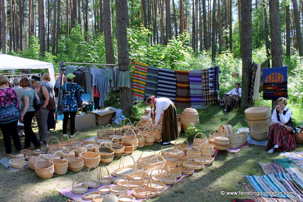
[[[42,80],[41,82],[42,85],[45,85],[48,91],[49,95],[49,101],[47,108],[49,109],[48,112],[48,117],[47,117],[47,133],[50,133],[51,131],[49,129],[53,129],[55,127],[55,116],[54,116],[54,109],[56,107],[55,105],[55,99],[53,95],[53,85],[49,82],[51,80],[50,76],[48,73],[44,73],[42,75]]]

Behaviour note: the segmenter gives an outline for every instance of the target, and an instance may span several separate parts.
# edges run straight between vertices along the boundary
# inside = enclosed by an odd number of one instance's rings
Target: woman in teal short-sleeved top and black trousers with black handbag
[[[24,123],[24,146],[22,149],[29,149],[31,148],[31,142],[34,144],[34,147],[31,149],[40,149],[42,146],[32,130],[32,120],[35,115],[35,108],[34,108],[34,98],[36,97],[39,100],[37,93],[34,89],[30,88],[31,83],[29,82],[28,78],[22,78],[19,82],[19,85],[24,89],[24,92],[21,96],[21,110],[22,113],[20,114],[20,121]]]

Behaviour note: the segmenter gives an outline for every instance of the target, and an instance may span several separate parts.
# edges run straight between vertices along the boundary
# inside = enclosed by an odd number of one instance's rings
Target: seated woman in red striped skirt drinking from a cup
[[[279,98],[276,109],[272,112],[272,125],[269,130],[266,149],[268,153],[284,152],[296,148],[294,124],[291,111],[286,108],[287,99]]]

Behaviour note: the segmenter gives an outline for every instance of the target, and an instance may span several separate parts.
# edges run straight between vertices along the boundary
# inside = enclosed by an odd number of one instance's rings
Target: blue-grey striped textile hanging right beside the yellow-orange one
[[[158,91],[158,68],[148,65],[144,100],[146,100],[151,95],[155,95],[155,97],[157,97],[157,91]]]

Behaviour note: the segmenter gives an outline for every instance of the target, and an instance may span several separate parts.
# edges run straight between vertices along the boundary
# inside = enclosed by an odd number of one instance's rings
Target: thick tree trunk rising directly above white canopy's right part
[[[39,0],[39,44],[40,44],[40,56],[45,57],[45,36],[46,36],[46,10],[45,0]]]

